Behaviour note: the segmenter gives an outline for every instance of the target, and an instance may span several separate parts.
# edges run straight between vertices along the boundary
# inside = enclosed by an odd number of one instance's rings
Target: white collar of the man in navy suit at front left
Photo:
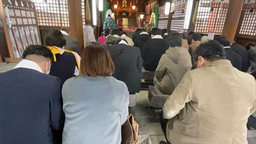
[[[34,69],[38,72],[44,73],[41,67],[37,63],[31,60],[21,60],[13,69],[17,69],[17,68]]]

